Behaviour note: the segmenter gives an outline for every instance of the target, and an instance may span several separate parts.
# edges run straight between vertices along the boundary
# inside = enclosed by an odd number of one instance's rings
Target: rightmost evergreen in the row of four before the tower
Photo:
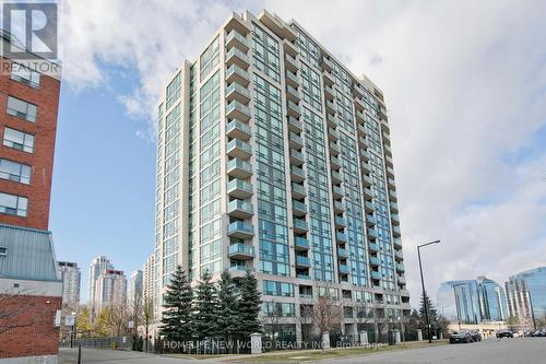
[[[258,281],[250,271],[247,271],[239,282],[239,334],[244,340],[248,340],[251,333],[262,331],[258,318],[262,303],[261,294],[258,291]]]

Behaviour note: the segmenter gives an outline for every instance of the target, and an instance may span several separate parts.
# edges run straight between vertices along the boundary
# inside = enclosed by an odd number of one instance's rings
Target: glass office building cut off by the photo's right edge
[[[506,283],[510,316],[530,326],[546,318],[546,267],[531,269],[509,278]]]

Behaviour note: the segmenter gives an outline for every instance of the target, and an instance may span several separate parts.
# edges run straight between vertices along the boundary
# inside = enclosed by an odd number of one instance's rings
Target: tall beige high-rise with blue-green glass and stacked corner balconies
[[[296,22],[234,13],[168,80],[157,139],[157,309],[181,265],[256,271],[264,313],[344,300],[347,333],[356,303],[410,312],[383,95]]]

